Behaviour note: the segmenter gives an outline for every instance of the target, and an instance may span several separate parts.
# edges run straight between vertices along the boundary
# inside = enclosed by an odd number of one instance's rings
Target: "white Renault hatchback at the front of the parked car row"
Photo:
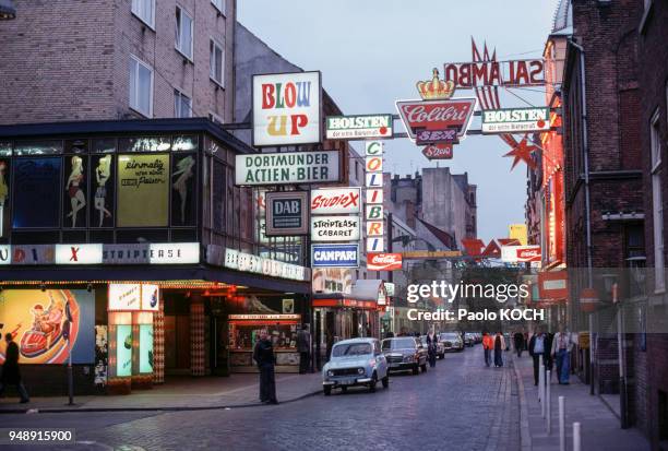
[[[377,339],[350,339],[336,343],[330,361],[322,368],[325,396],[332,394],[332,389],[346,391],[354,385],[366,385],[374,392],[379,380],[383,388],[390,385],[387,360]]]

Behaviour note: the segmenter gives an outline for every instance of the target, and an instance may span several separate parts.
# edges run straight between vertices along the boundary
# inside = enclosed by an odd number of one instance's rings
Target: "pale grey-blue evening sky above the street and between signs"
[[[395,100],[417,99],[415,83],[432,68],[472,60],[472,37],[498,59],[540,57],[558,0],[238,0],[238,20],[281,56],[322,71],[323,87],[345,115],[396,114]],[[513,95],[514,94],[514,95]],[[472,96],[457,91],[457,96]],[[500,90],[501,107],[545,105],[537,88]],[[522,97],[523,99],[517,98]],[[396,131],[405,131],[395,122]],[[479,128],[474,118],[472,128]],[[354,146],[359,151],[360,145]],[[478,236],[508,236],[524,223],[526,165],[510,170],[510,147],[472,135],[440,162],[478,186]],[[384,170],[401,176],[434,167],[409,140],[385,141]]]

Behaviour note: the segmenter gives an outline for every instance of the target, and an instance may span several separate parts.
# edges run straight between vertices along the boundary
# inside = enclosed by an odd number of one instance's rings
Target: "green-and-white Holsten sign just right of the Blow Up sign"
[[[330,116],[327,140],[392,138],[392,115]]]

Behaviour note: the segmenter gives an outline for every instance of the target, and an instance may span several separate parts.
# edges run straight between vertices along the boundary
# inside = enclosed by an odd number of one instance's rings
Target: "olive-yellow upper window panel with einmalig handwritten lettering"
[[[169,154],[119,155],[117,178],[117,226],[167,226]]]

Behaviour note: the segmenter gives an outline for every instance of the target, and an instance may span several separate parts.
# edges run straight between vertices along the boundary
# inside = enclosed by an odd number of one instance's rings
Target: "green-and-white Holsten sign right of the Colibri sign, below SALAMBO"
[[[549,108],[504,108],[482,111],[482,133],[520,133],[550,130]]]

